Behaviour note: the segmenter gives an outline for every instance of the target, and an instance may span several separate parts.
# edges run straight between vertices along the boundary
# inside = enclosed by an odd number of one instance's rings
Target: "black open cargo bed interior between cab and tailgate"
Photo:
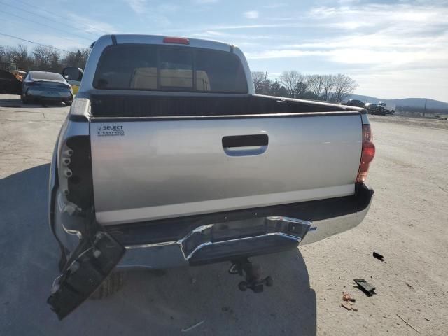
[[[200,94],[157,96],[148,94],[92,94],[92,116],[95,118],[247,116],[290,113],[355,113],[349,106],[285,99],[262,95]]]

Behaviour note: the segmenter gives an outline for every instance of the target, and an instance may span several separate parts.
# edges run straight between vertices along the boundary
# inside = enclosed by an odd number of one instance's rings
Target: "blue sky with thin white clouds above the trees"
[[[106,33],[223,41],[252,71],[344,73],[357,94],[448,102],[448,0],[0,0],[0,33],[73,50]],[[0,45],[28,44],[0,35]]]

